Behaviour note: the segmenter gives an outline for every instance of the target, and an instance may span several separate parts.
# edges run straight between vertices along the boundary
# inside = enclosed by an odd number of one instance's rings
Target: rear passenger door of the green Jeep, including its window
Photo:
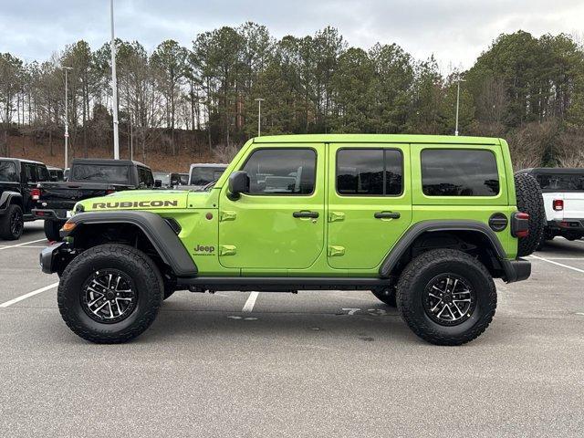
[[[328,265],[379,266],[412,222],[408,144],[330,144]]]

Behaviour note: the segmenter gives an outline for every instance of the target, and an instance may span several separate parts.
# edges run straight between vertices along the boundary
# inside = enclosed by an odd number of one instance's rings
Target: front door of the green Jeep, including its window
[[[324,144],[255,143],[237,170],[248,193],[219,205],[219,260],[246,272],[306,269],[324,246]]]

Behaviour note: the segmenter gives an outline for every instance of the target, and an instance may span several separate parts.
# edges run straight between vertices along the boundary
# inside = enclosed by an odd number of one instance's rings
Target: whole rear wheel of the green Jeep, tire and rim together
[[[397,287],[401,318],[420,338],[461,345],[491,323],[496,289],[485,266],[453,249],[419,255],[405,267]]]

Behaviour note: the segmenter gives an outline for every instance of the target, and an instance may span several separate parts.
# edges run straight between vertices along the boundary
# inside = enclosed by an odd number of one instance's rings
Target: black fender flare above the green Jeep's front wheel
[[[77,226],[71,232],[61,232],[61,237],[75,236],[84,224],[133,224],[148,237],[162,261],[172,267],[176,276],[196,276],[198,273],[191,255],[171,225],[161,215],[141,211],[88,212],[71,217],[69,223]]]

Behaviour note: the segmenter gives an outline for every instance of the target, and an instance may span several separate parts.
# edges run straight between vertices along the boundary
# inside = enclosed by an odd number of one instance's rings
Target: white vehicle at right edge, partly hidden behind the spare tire
[[[584,236],[584,169],[543,167],[517,173],[532,175],[541,187],[547,219],[545,240],[557,235],[568,240]]]

